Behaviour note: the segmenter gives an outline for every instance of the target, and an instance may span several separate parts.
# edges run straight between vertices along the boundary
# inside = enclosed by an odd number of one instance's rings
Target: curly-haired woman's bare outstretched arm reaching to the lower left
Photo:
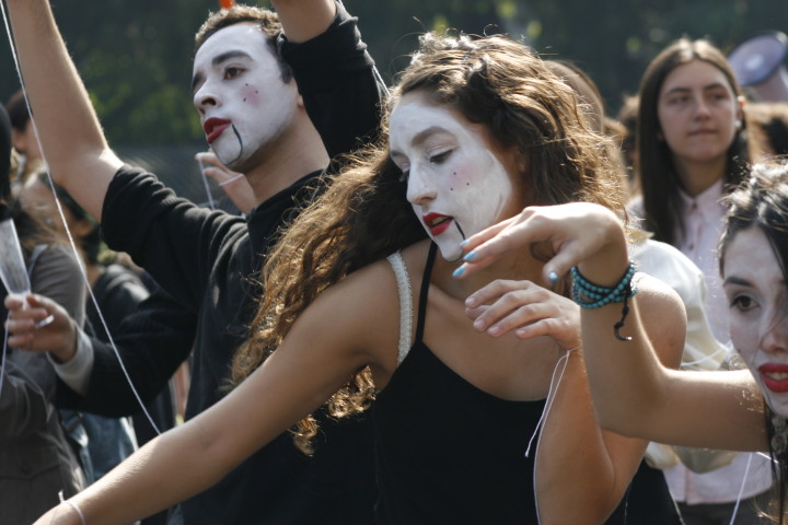
[[[375,363],[378,358],[368,350],[381,348],[381,330],[391,334],[390,345],[382,348],[395,355],[398,303],[394,278],[386,278],[392,282],[383,285],[383,294],[380,285],[356,279],[357,284],[348,283],[350,278],[325,291],[301,314],[271,357],[230,395],[149,442],[74,497],[86,522],[130,523],[217,482],[323,405],[356,371]],[[380,279],[374,282],[380,284]],[[68,504],[37,523],[80,525]]]

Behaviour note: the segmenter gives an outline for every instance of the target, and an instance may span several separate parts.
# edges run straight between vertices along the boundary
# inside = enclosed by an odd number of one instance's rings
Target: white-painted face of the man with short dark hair
[[[291,124],[298,90],[283,83],[266,36],[252,23],[211,35],[197,50],[192,90],[206,139],[227,166],[246,162]]]

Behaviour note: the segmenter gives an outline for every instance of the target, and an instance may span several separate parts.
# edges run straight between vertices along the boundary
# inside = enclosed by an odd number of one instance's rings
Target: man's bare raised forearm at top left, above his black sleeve
[[[55,179],[93,217],[120,160],[106,143],[88,92],[46,0],[8,2],[42,152]]]

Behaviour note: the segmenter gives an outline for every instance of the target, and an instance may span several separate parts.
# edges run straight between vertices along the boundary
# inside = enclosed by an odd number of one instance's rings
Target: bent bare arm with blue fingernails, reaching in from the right
[[[532,207],[520,215],[471,237],[473,252],[464,276],[472,275],[515,246],[547,242],[556,253],[544,268],[544,282],[565,276],[572,266],[591,282],[615,284],[627,268],[624,229],[618,219],[596,205]],[[464,277],[463,276],[463,277]],[[659,291],[654,290],[659,295]],[[658,304],[669,300],[657,296]],[[622,332],[613,326],[622,303],[582,311],[582,340],[594,411],[603,428],[661,443],[722,450],[764,450],[761,396],[746,372],[685,372],[660,364],[663,334],[652,331],[662,310],[630,301]],[[672,307],[668,306],[669,311]],[[670,328],[670,327],[668,327]],[[653,340],[649,334],[657,334]],[[677,341],[679,350],[681,341]],[[671,352],[673,353],[673,352]]]

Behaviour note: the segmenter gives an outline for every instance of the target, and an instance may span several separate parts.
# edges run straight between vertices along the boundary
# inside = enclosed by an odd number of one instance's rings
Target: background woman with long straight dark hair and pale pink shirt
[[[742,180],[750,161],[741,89],[719,49],[707,40],[682,38],[651,61],[639,100],[642,197],[631,209],[654,240],[672,244],[704,272],[709,324],[727,343],[717,244],[726,211],[720,199]],[[728,524],[742,483],[745,499],[772,486],[767,462],[755,455],[739,455],[706,474],[677,465],[665,470],[665,479],[688,525]],[[741,505],[735,523],[761,523],[753,506]]]

